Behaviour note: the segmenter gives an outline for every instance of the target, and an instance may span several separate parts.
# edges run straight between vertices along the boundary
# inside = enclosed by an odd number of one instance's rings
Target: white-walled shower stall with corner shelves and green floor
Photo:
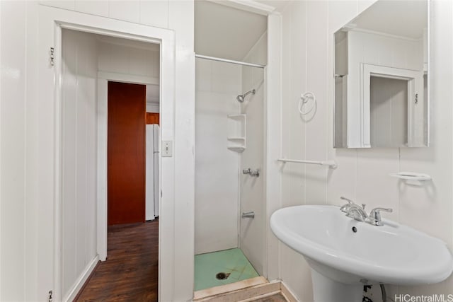
[[[200,291],[265,274],[267,34],[239,58],[198,55],[197,45],[195,51],[194,291]]]

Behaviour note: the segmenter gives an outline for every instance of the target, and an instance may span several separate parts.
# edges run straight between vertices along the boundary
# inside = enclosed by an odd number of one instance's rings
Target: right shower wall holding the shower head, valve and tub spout
[[[244,62],[260,62],[267,59],[268,36],[265,33],[243,59]],[[242,66],[242,92],[255,89],[241,104],[241,113],[247,116],[247,148],[241,153],[241,170],[259,169],[258,178],[241,173],[240,213],[254,211],[254,219],[240,218],[239,246],[256,269],[263,274],[265,261],[265,83],[264,69]]]

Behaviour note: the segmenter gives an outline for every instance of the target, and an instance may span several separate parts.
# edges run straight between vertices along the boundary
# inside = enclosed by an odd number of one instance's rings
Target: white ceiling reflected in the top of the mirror
[[[379,0],[350,24],[357,28],[420,39],[428,26],[427,1]]]

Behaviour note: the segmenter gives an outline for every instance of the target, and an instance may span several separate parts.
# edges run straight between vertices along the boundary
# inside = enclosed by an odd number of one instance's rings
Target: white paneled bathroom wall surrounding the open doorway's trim
[[[70,0],[39,4],[175,31],[176,69],[168,72],[176,79],[173,156],[177,172],[174,192],[164,192],[174,201],[174,216],[168,217],[162,226],[168,236],[161,238],[161,243],[171,246],[171,250],[166,251],[162,263],[165,269],[159,295],[164,301],[190,300],[193,296],[195,170],[193,1]],[[55,257],[47,245],[54,234],[43,234],[38,228],[42,223],[53,223],[52,212],[46,212],[47,208],[42,206],[43,198],[52,198],[47,192],[52,191],[53,184],[37,173],[44,169],[42,165],[47,165],[47,160],[42,161],[44,155],[39,153],[47,150],[43,147],[47,142],[38,140],[38,131],[47,128],[37,127],[47,116],[42,114],[47,104],[35,102],[40,92],[40,62],[38,52],[29,51],[40,45],[38,7],[37,1],[0,2],[0,299],[6,301],[45,301],[47,291],[52,289],[52,268],[42,264],[51,263]],[[47,50],[50,45],[40,47]],[[53,115],[53,112],[47,114]],[[52,121],[42,124],[52,127]],[[47,165],[47,168],[53,167]],[[55,280],[55,285],[57,283]]]

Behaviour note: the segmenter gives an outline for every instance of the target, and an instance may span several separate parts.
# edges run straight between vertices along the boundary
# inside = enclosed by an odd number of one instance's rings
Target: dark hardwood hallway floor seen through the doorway
[[[107,260],[75,301],[157,301],[159,221],[108,227]]]

